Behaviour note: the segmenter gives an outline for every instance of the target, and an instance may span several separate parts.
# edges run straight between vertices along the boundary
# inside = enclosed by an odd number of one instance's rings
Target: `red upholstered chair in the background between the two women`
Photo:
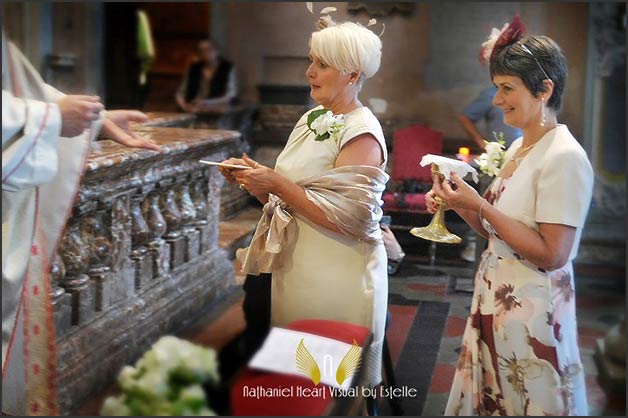
[[[392,175],[383,195],[386,213],[427,213],[425,193],[432,187],[430,166],[421,167],[425,154],[443,153],[443,134],[423,125],[398,129],[393,138]]]

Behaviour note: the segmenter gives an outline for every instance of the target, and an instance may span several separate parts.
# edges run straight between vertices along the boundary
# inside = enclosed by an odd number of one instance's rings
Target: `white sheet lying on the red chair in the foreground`
[[[266,337],[262,348],[249,361],[249,367],[297,375],[307,379],[308,376],[297,369],[296,353],[301,339],[307,351],[316,360],[321,372],[321,383],[347,389],[352,378],[348,377],[340,386],[336,382],[336,370],[352,345],[307,332],[274,327]]]

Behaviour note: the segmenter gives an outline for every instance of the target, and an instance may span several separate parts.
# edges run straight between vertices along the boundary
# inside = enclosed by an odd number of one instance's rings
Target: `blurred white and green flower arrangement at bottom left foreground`
[[[118,375],[119,396],[107,398],[104,416],[207,416],[202,385],[220,381],[216,352],[177,337],[157,341],[135,367],[125,366]]]

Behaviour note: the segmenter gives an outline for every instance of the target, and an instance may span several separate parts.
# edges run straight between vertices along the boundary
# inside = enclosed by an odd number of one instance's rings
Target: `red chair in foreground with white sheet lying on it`
[[[371,331],[359,325],[347,322],[322,319],[304,319],[294,321],[286,327],[295,331],[308,332],[327,338],[333,338],[347,344],[353,340],[362,347],[364,359],[371,344]],[[353,384],[359,384],[364,376],[364,368],[354,376]],[[264,372],[246,368],[231,387],[231,414],[232,415],[353,415],[359,414],[362,400],[360,399],[330,399],[330,397],[294,397],[294,398],[255,398],[244,396],[244,387],[286,388],[301,386],[314,389],[316,386],[307,377],[294,376],[283,373]]]

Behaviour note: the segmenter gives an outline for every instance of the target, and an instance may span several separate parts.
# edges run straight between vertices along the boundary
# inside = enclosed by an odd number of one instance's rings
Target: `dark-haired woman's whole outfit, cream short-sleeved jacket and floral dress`
[[[513,158],[517,139],[506,151]],[[482,219],[489,243],[476,272],[471,311],[446,415],[587,415],[576,323],[572,260],[593,192],[587,154],[565,125],[548,131],[485,197],[538,231],[575,228],[569,261],[545,271]]]

